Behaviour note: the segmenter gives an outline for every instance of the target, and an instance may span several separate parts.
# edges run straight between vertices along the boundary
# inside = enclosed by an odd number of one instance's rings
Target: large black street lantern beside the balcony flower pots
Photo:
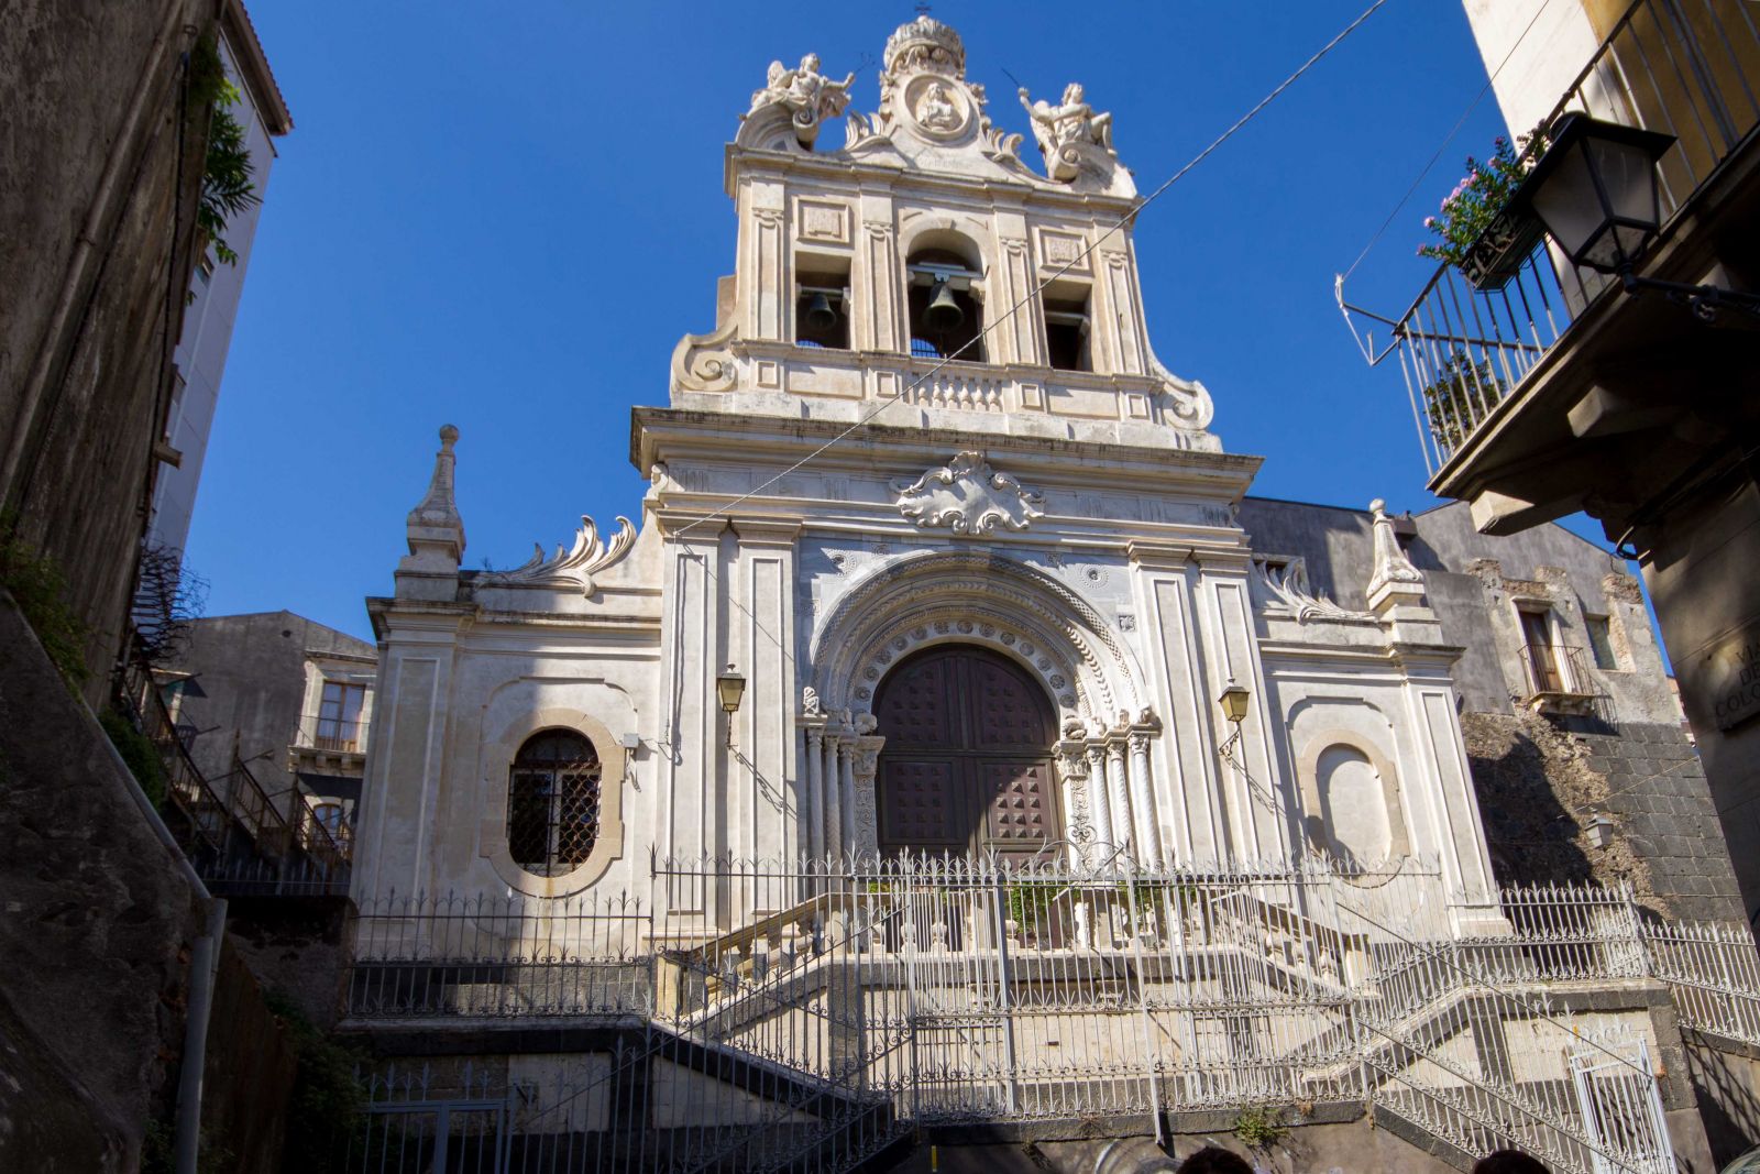
[[[1565,114],[1551,139],[1512,206],[1529,208],[1573,266],[1624,273],[1661,229],[1656,160],[1674,136]]]

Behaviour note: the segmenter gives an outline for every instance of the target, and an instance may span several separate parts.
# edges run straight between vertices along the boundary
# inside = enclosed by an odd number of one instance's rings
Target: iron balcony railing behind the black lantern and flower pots
[[[1674,136],[1658,162],[1667,225],[1760,125],[1755,14],[1742,0],[1637,0],[1544,125],[1580,111]],[[1339,305],[1346,319],[1387,326],[1385,341],[1369,331],[1366,357],[1371,366],[1399,359],[1434,475],[1612,285],[1565,262],[1542,236],[1501,289],[1475,289],[1443,262],[1397,319],[1350,306],[1343,290]]]

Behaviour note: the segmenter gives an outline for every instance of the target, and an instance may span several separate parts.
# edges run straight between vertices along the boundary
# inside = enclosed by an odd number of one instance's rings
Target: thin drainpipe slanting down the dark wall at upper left
[[[37,361],[32,364],[30,377],[25,380],[25,387],[19,394],[19,412],[12,428],[12,442],[7,445],[5,458],[0,459],[0,495],[5,495],[7,498],[14,498],[18,491],[12,479],[18,477],[19,466],[25,459],[25,451],[32,438],[37,414],[42,408],[44,393],[49,384],[49,370],[55,366],[55,356],[60,349],[58,343],[67,333],[76,310],[79,310],[79,290],[86,283],[88,271],[100,262],[99,236],[104,232],[106,222],[113,220],[111,206],[116,202],[118,185],[121,183],[123,172],[130,169],[130,158],[136,155],[136,148],[139,146],[141,127],[146,120],[146,100],[157,88],[165,58],[172,49],[172,37],[178,33],[180,25],[185,30],[185,35],[195,33],[195,26],[190,23],[190,18],[185,16],[185,7],[188,5],[172,4],[165,12],[165,23],[160,26],[158,35],[153,39],[153,46],[146,53],[141,83],[136,86],[134,99],[128,102],[128,113],[123,116],[121,130],[116,134],[109,158],[104,162],[104,174],[99,178],[99,187],[92,194],[92,202],[86,206],[86,220],[79,227],[79,236],[74,238],[74,255],[67,260],[67,280],[62,282],[62,292],[55,299],[55,313],[49,317],[49,326],[44,329],[42,341],[37,349]]]

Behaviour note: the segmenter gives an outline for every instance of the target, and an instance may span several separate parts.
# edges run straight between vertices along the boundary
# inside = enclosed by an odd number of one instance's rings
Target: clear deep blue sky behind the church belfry
[[[1366,4],[949,0],[933,14],[1012,130],[1026,120],[1008,74],[1035,95],[1084,83],[1148,192]],[[628,410],[665,403],[674,343],[713,327],[734,262],[722,151],[737,114],[771,58],[806,51],[827,74],[857,70],[854,107],[871,111],[882,46],[912,5],[255,0],[252,16],[296,128],[188,561],[211,583],[208,614],[287,607],[370,635],[363,598],[391,593],[442,422],[463,433],[472,567],[517,565],[581,514],[639,517]],[[1228,451],[1267,458],[1255,493],[1434,503],[1397,370],[1364,364],[1332,275],[1484,84],[1457,0],[1390,0],[1140,218],[1156,350],[1211,389]],[[1501,132],[1487,95],[1353,299],[1412,299],[1431,264],[1413,257],[1422,216]]]

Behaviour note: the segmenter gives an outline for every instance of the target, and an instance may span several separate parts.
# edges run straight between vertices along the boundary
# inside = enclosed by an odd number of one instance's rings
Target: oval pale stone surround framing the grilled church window
[[[507,847],[509,767],[528,737],[540,730],[576,730],[598,752],[598,838],[591,854],[568,873],[537,877],[514,862]],[[482,818],[477,827],[477,854],[489,861],[495,875],[514,891],[537,898],[560,898],[579,892],[605,875],[612,862],[623,857],[623,785],[627,778],[627,752],[616,736],[598,718],[565,706],[546,706],[503,720],[498,729],[486,729],[479,762]]]

